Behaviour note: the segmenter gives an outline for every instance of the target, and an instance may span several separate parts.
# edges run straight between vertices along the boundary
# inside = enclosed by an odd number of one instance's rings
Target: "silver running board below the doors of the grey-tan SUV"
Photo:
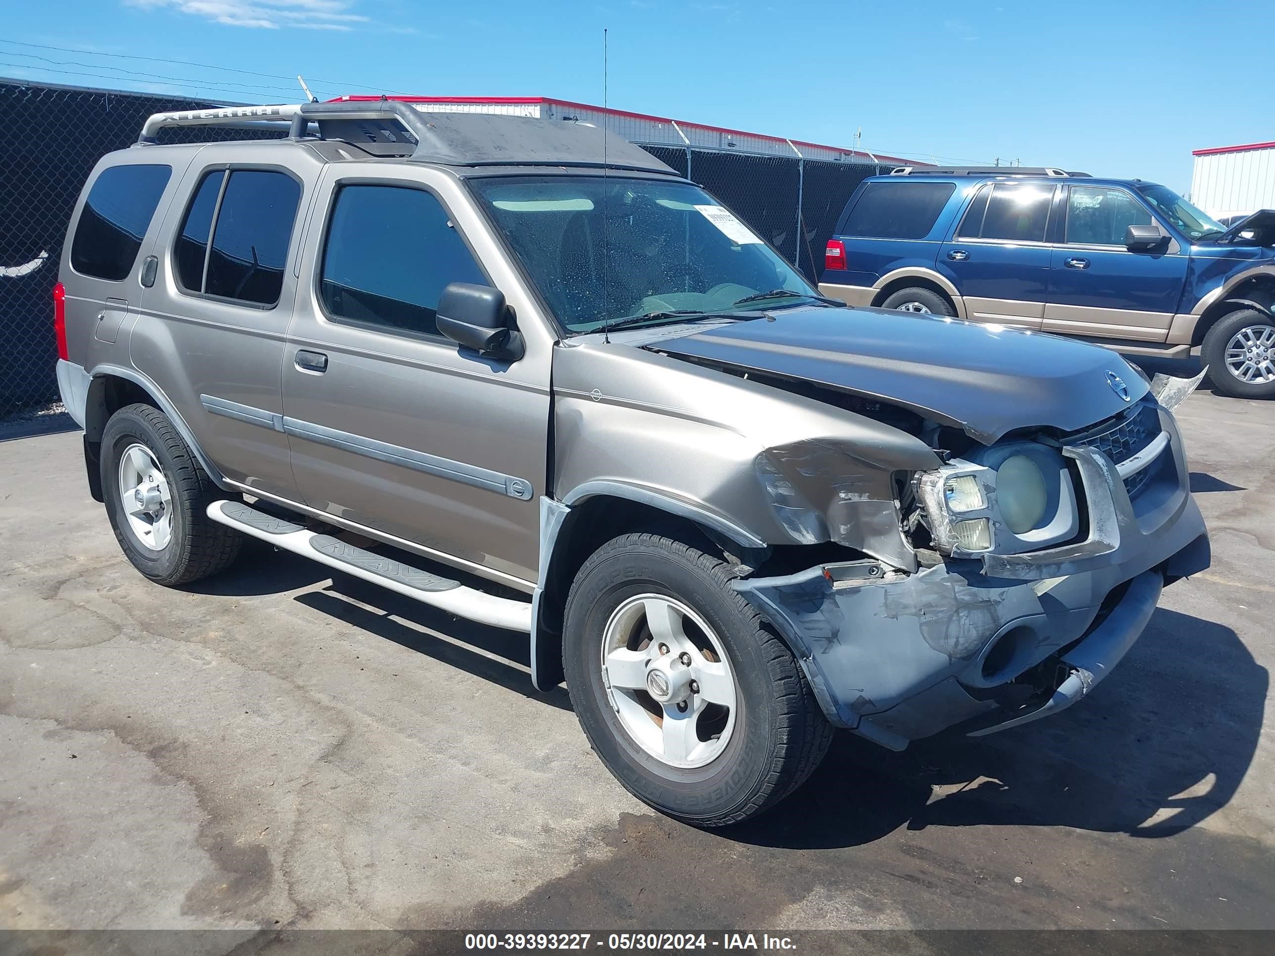
[[[208,506],[208,516],[218,524],[260,538],[277,548],[389,588],[422,604],[492,627],[530,634],[530,602],[484,594],[474,588],[467,588],[460,581],[347,544],[332,535],[307,530],[292,521],[258,511],[241,501],[214,501]]]

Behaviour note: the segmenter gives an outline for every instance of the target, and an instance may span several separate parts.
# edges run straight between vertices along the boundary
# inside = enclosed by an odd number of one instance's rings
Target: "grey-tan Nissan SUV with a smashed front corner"
[[[154,144],[245,119],[289,135]],[[93,171],[60,278],[62,398],[143,575],[251,535],[527,632],[618,780],[700,826],[773,806],[833,728],[901,750],[1062,710],[1209,563],[1187,387],[821,298],[580,124],[158,115]]]

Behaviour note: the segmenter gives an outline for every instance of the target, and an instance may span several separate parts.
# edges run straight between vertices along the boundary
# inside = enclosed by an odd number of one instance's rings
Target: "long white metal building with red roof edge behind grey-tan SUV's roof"
[[[843,149],[840,147],[807,143],[801,139],[771,136],[762,133],[745,133],[723,126],[708,126],[688,120],[671,120],[666,116],[635,113],[627,110],[603,110],[601,106],[575,103],[569,99],[548,97],[409,97],[391,96],[428,112],[474,112],[501,113],[506,116],[525,116],[533,120],[578,120],[601,125],[607,117],[607,127],[632,143],[646,143],[669,147],[694,147],[696,149],[731,149],[741,153],[761,153],[770,156],[805,157],[807,159],[830,159],[844,163],[884,163],[891,166],[927,166],[915,159],[900,159],[894,156],[872,153],[866,149]],[[340,99],[367,101],[380,97],[348,96]]]

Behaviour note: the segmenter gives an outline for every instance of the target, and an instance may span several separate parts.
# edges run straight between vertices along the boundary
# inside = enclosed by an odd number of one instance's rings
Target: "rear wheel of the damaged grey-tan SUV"
[[[242,538],[205,512],[217,486],[163,412],[138,404],[111,416],[101,460],[111,529],[152,581],[189,584],[237,557]]]

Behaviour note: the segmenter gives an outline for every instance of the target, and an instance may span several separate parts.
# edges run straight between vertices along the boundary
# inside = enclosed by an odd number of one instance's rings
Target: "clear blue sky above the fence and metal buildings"
[[[607,27],[613,107],[1183,192],[1192,149],[1275,139],[1270,0],[46,0],[4,19],[3,76],[245,102],[295,101],[297,73],[321,98],[601,102]]]

